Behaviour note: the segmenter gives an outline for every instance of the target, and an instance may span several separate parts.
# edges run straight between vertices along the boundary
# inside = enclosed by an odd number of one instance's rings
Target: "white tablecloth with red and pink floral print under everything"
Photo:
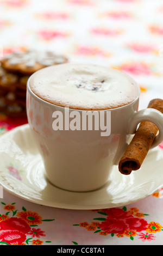
[[[48,49],[111,66],[139,83],[141,109],[163,96],[162,24],[161,0],[0,0],[0,54]],[[0,121],[1,135],[27,123],[3,113]],[[158,191],[126,206],[66,210],[1,188],[0,245],[163,245],[162,190],[163,179]]]

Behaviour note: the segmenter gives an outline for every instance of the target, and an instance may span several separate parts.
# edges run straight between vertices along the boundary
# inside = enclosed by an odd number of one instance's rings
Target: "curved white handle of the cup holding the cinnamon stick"
[[[163,114],[154,108],[141,109],[140,111],[135,112],[129,119],[127,133],[134,134],[137,125],[141,123],[141,121],[151,121],[158,127],[159,133],[156,135],[151,145],[151,149],[153,149],[163,141]]]

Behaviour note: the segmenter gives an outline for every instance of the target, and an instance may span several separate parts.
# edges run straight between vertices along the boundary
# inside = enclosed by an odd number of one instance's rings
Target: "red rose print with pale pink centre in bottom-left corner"
[[[19,230],[0,230],[0,241],[9,245],[21,245],[26,240],[26,235]]]

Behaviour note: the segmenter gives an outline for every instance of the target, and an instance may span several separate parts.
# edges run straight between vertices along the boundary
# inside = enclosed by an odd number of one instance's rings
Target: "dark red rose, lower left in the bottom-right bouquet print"
[[[128,229],[128,226],[123,220],[117,219],[107,219],[106,221],[103,221],[99,227],[102,229],[102,231],[110,234],[123,234],[124,231]]]

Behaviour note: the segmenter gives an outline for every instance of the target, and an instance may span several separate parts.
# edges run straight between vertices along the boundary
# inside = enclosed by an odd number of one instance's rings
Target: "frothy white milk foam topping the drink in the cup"
[[[35,72],[30,89],[41,99],[72,109],[101,110],[127,105],[139,95],[135,81],[92,64],[59,64]]]

